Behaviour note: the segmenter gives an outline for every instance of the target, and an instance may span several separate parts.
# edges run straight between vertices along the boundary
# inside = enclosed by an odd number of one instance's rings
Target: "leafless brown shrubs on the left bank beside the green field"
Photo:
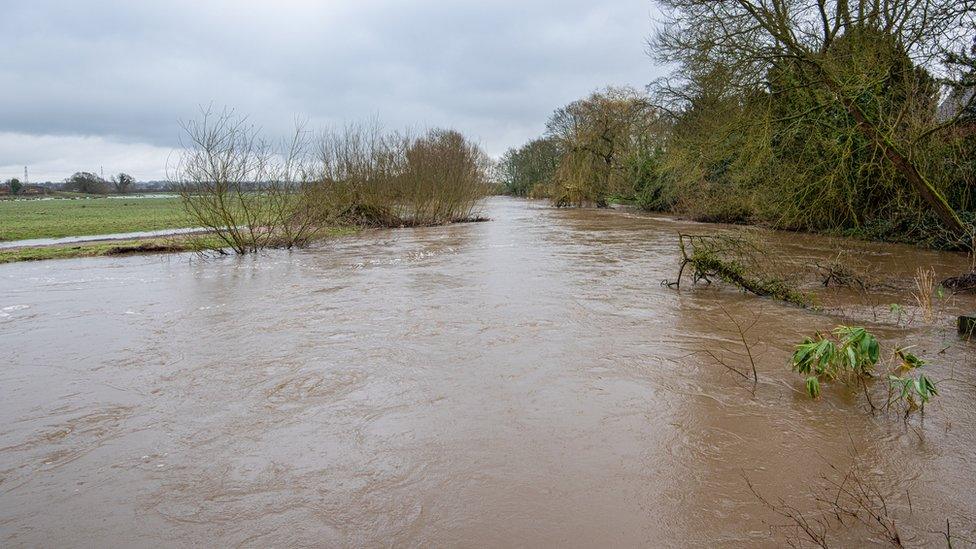
[[[438,225],[475,217],[489,190],[489,159],[453,130],[419,136],[378,124],[290,140],[261,138],[246,117],[205,111],[184,124],[171,179],[202,227],[239,254],[304,246],[336,225]]]

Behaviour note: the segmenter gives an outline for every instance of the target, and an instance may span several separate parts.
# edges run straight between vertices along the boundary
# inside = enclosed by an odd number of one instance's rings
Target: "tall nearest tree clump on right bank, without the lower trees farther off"
[[[656,90],[674,113],[667,169],[678,196],[705,195],[680,210],[971,237],[960,212],[976,208],[973,174],[952,167],[971,97],[940,113],[943,83],[958,80],[949,55],[972,39],[970,2],[661,3],[668,21],[652,45],[679,62]]]

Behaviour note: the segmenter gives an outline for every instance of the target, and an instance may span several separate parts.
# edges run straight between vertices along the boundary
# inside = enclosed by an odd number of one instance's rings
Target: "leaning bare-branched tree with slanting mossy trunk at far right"
[[[771,73],[789,74],[791,86],[805,96],[805,111],[781,117],[843,113],[832,124],[846,125],[881,153],[890,168],[917,193],[957,237],[967,227],[944,194],[925,173],[920,150],[958,124],[959,112],[936,116],[905,101],[876,108],[873,90],[912,76],[919,90],[926,79],[945,72],[947,53],[958,51],[974,29],[973,0],[660,0],[667,21],[652,42],[656,54],[677,60],[681,80],[720,67],[728,85],[743,96],[768,91]],[[886,37],[910,62],[906,70],[868,67],[855,55],[868,41]],[[843,41],[853,47],[843,45]],[[840,45],[838,45],[840,43]],[[847,49],[850,55],[839,55]],[[890,52],[889,52],[890,53]],[[864,69],[864,70],[862,70]],[[910,120],[909,120],[910,119]],[[910,123],[907,123],[909,122]]]

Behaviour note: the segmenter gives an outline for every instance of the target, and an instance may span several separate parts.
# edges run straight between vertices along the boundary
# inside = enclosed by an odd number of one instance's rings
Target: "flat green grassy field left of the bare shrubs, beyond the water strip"
[[[175,197],[0,201],[0,241],[192,226]]]

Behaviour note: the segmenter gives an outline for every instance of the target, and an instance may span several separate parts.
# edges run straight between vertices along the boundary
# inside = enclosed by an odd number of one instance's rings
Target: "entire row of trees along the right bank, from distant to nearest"
[[[674,71],[557,110],[503,157],[508,192],[971,246],[976,2],[659,4]]]

